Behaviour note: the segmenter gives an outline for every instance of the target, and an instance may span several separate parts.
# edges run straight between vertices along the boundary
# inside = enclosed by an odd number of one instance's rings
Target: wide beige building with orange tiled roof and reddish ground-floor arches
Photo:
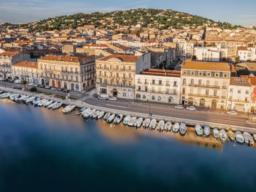
[[[42,85],[78,91],[95,85],[95,55],[46,55],[38,59],[38,70]]]

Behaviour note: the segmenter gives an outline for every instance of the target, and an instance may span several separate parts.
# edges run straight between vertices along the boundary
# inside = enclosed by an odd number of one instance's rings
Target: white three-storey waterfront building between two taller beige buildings
[[[136,100],[180,103],[181,72],[146,69],[135,75]]]

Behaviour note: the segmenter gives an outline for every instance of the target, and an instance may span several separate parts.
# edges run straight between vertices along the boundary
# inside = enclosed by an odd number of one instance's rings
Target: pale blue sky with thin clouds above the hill
[[[172,9],[233,25],[256,26],[255,0],[0,0],[0,23],[127,9]]]

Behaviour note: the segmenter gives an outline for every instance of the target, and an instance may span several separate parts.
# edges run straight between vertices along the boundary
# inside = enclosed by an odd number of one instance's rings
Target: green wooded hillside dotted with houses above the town
[[[182,28],[182,26],[217,26],[220,28],[237,28],[230,23],[215,22],[201,16],[172,11],[171,9],[131,9],[127,11],[95,12],[92,14],[73,14],[70,16],[55,16],[41,21],[24,24],[25,28],[33,31],[46,31],[53,29],[77,28],[84,25],[95,25],[99,28],[114,29],[118,26],[136,26],[142,24],[144,27],[156,27],[166,29],[169,27]]]

